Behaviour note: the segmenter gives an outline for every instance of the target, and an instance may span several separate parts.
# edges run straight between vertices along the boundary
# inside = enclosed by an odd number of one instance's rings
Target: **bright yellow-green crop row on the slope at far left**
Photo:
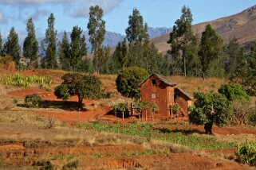
[[[36,75],[9,75],[6,77],[0,77],[0,82],[4,85],[13,85],[18,87],[30,87],[31,84],[40,84],[42,86],[49,86],[52,80],[45,76]]]

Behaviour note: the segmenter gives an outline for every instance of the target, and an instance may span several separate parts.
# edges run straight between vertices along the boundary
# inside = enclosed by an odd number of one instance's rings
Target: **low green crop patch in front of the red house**
[[[154,128],[151,123],[136,124],[81,124],[84,129],[93,129],[99,132],[120,133],[130,136],[146,137],[160,141],[169,141],[179,145],[186,145],[191,149],[225,149],[234,148],[234,142],[221,143],[217,137],[207,135],[195,135],[187,131],[171,131],[166,128]]]

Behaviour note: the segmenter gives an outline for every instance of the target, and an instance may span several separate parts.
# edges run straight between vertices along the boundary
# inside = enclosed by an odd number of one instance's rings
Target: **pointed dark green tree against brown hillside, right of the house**
[[[219,60],[222,48],[222,39],[217,35],[215,29],[211,28],[211,25],[207,25],[202,33],[201,44],[199,45],[199,59],[201,61],[203,79],[212,62]]]

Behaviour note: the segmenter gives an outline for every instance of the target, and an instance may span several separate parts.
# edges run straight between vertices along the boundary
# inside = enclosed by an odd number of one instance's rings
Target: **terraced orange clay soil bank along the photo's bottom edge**
[[[228,160],[215,160],[190,153],[170,153],[163,155],[122,156],[124,153],[142,152],[140,145],[102,145],[77,147],[16,148],[2,145],[0,153],[7,168],[13,166],[37,167],[41,160],[50,160],[55,166],[65,164],[67,157],[78,160],[79,169],[250,169]],[[53,158],[55,157],[55,158]],[[62,158],[61,158],[62,157]],[[181,161],[182,160],[182,161]]]

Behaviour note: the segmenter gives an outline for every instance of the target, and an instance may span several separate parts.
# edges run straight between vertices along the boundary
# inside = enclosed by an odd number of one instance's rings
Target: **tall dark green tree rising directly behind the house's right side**
[[[187,60],[189,60],[189,63],[196,62],[196,60],[190,59],[197,56],[198,41],[191,29],[193,17],[190,8],[183,6],[181,11],[182,15],[175,21],[170,38],[167,41],[171,47],[168,54],[171,56],[171,60],[174,61],[171,65],[171,74],[183,73],[184,76],[187,76]]]

